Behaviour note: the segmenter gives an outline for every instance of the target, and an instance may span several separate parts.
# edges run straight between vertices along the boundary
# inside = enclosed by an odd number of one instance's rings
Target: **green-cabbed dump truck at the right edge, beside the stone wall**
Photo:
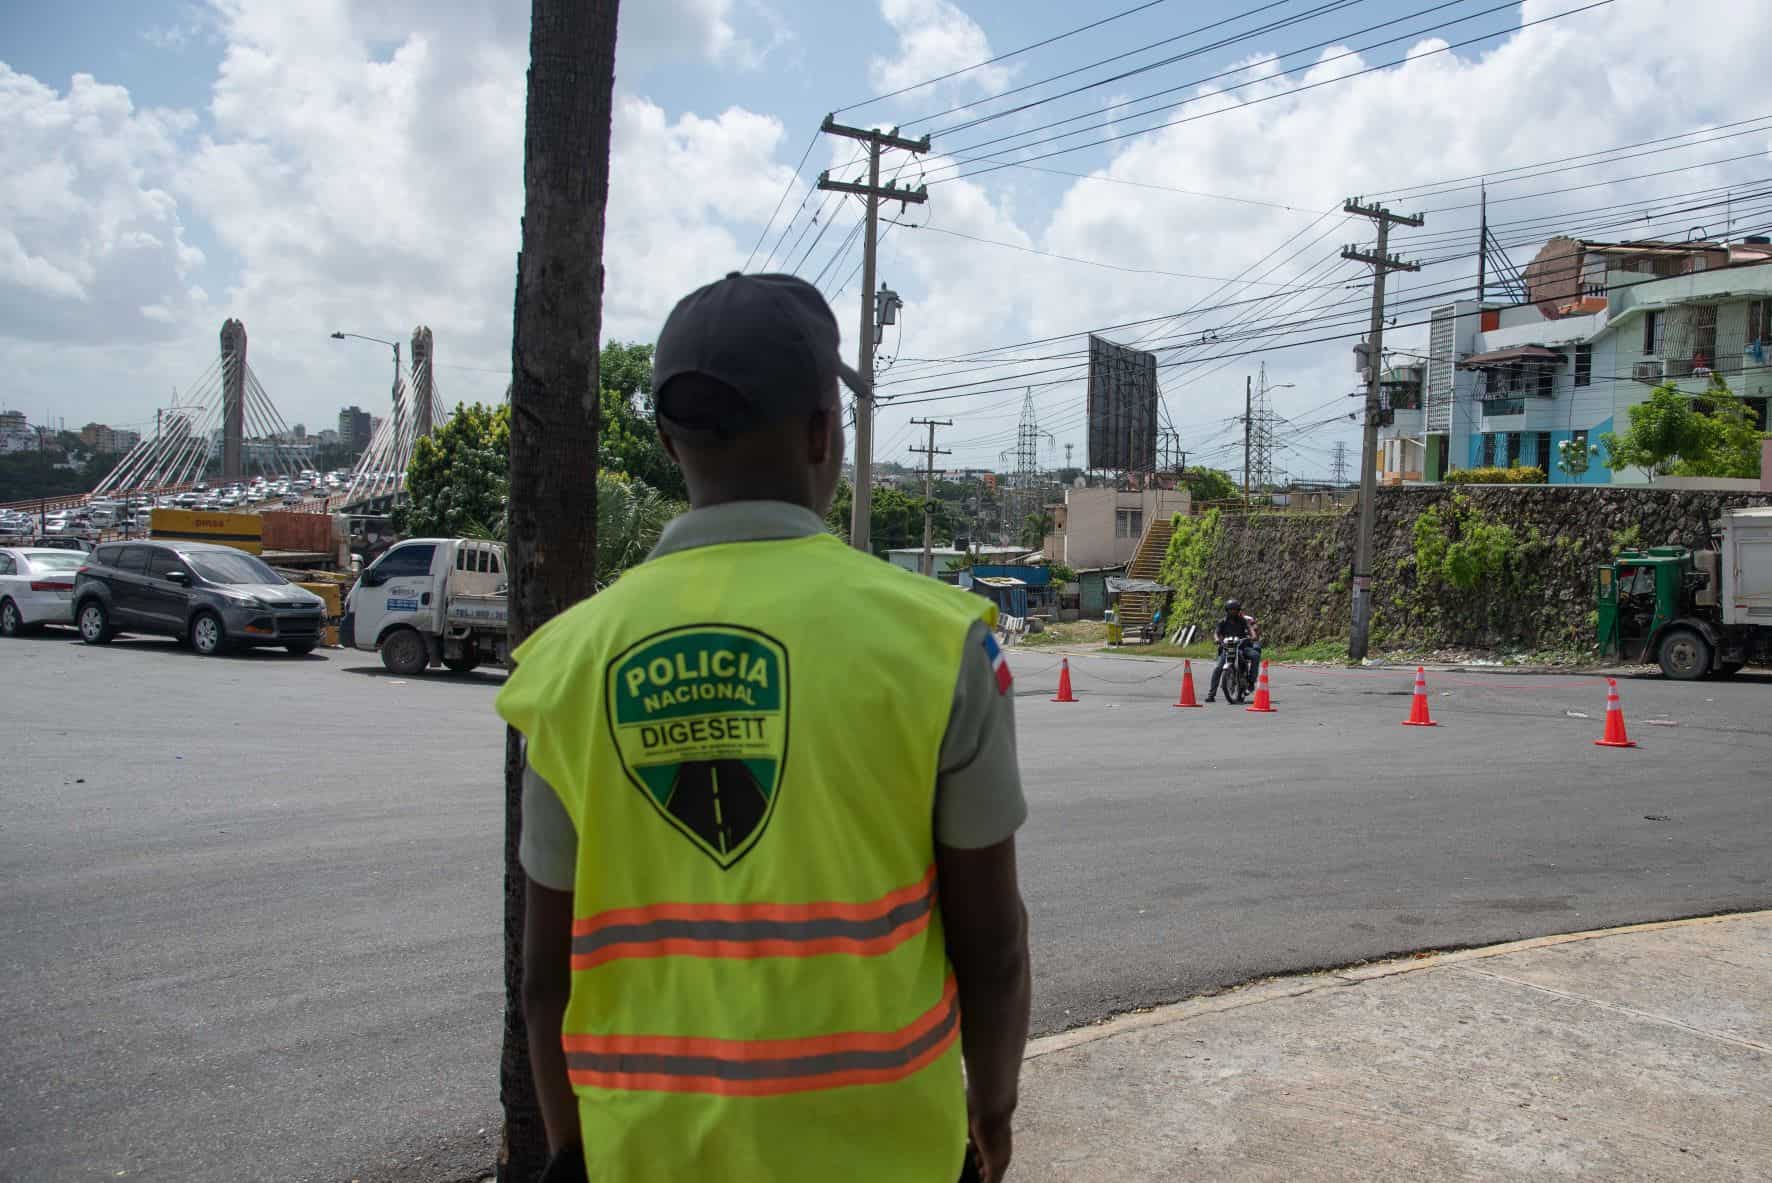
[[[1602,657],[1680,680],[1772,664],[1772,506],[1726,510],[1705,551],[1620,551],[1595,599]]]

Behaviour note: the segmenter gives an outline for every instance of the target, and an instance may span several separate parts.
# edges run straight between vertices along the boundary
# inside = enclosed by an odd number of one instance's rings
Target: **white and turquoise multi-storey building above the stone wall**
[[[1699,395],[1721,375],[1767,423],[1772,244],[1552,239],[1524,278],[1529,303],[1432,312],[1419,409],[1380,429],[1380,480],[1540,466],[1550,483],[1644,483],[1605,466],[1600,436],[1664,383]]]

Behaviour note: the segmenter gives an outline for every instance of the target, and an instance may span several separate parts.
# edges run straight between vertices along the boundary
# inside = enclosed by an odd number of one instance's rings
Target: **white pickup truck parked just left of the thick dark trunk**
[[[381,652],[390,673],[510,662],[505,544],[408,538],[377,558],[344,602],[338,639]]]

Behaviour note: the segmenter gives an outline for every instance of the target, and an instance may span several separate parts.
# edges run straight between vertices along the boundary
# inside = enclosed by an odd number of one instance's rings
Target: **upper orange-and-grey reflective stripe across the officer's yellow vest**
[[[877,956],[929,928],[936,868],[865,903],[654,903],[572,924],[572,969],[631,956]]]

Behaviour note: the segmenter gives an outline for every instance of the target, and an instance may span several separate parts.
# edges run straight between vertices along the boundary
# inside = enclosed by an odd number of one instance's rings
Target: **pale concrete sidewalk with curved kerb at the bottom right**
[[[1772,1178],[1772,912],[1285,978],[1037,1040],[1019,1183]]]

